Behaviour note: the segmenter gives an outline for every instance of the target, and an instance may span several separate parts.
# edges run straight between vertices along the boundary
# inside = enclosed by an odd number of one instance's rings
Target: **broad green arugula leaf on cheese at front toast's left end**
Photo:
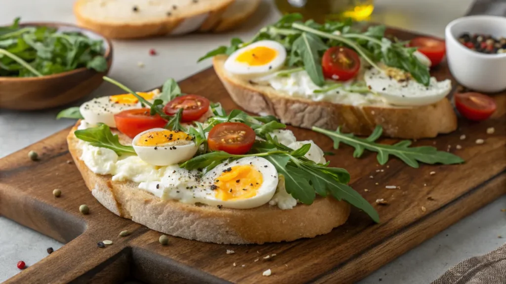
[[[74,135],[89,142],[92,146],[111,149],[116,154],[135,154],[134,147],[125,146],[119,143],[118,135],[112,134],[111,129],[106,124],[100,123],[97,127],[75,130]]]

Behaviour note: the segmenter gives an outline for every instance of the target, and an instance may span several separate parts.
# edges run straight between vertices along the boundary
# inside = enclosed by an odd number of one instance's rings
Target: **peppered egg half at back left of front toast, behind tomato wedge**
[[[154,89],[150,92],[137,92],[139,96],[147,101],[153,101],[158,97],[160,90]],[[141,108],[139,100],[131,93],[117,94],[93,99],[82,104],[79,112],[89,124],[104,123],[110,127],[116,127],[114,115],[124,110]]]

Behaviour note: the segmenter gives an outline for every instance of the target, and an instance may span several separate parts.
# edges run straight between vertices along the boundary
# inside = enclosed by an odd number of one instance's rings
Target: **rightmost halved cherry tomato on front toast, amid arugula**
[[[242,155],[248,153],[256,137],[255,131],[244,123],[224,122],[209,131],[207,145],[213,151]]]

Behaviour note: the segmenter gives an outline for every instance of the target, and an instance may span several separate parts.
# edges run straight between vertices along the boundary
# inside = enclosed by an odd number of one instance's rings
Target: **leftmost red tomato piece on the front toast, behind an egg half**
[[[167,123],[159,115],[149,115],[149,109],[125,110],[114,115],[116,128],[130,138],[142,131],[163,127]]]

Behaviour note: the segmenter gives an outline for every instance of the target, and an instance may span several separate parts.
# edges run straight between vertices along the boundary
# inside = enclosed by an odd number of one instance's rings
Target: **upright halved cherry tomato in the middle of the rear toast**
[[[349,48],[334,46],[323,54],[321,66],[325,77],[348,81],[355,77],[360,70],[360,58],[355,51]]]

